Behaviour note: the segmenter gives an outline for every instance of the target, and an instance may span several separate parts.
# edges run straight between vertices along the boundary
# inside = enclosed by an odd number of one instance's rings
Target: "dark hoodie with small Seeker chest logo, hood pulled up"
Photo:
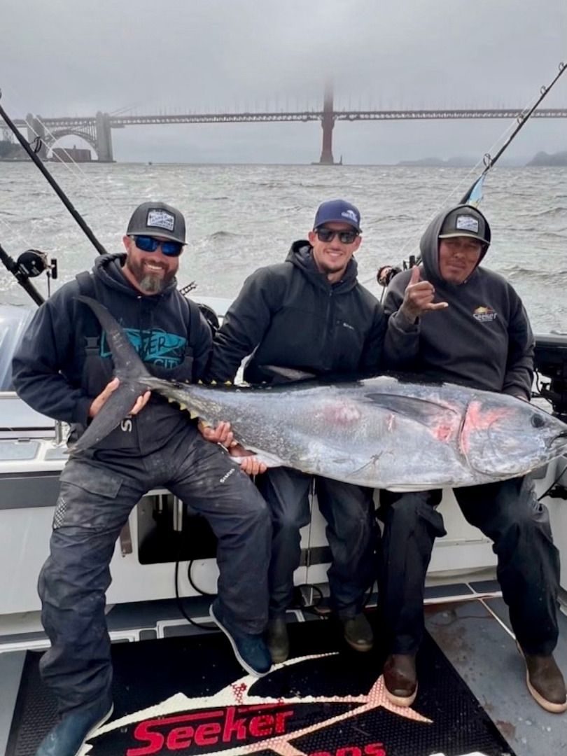
[[[434,218],[420,242],[421,279],[435,287],[435,302],[449,306],[410,323],[398,309],[411,270],[398,273],[384,300],[390,315],[384,343],[387,367],[529,398],[534,336],[516,291],[480,265],[460,284],[443,280],[439,273],[438,237],[449,212]],[[490,241],[488,222],[486,229]],[[483,249],[479,262],[485,253]]]

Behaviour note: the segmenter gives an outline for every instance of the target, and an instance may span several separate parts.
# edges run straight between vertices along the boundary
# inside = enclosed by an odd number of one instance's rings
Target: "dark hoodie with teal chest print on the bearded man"
[[[30,407],[78,426],[88,422],[93,399],[113,376],[113,361],[101,327],[79,293],[95,296],[125,328],[147,369],[175,380],[197,380],[209,355],[209,326],[200,318],[191,331],[191,308],[178,293],[175,280],[162,293],[144,296],[122,274],[125,255],[104,255],[95,261],[91,291],[72,280],[36,312],[14,355],[14,387]],[[194,343],[188,335],[196,334]],[[139,454],[160,448],[172,432],[187,425],[187,414],[152,395],[147,407],[132,418],[132,430],[116,429],[99,448],[129,449]]]

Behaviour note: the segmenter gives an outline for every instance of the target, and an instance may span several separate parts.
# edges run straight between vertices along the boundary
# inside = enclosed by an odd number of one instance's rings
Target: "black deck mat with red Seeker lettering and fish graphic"
[[[293,624],[290,640],[293,658],[261,680],[218,633],[113,645],[115,711],[89,756],[513,756],[429,635],[405,709],[383,696],[380,642],[352,651],[333,621]],[[38,659],[27,652],[7,756],[33,756],[55,721]]]

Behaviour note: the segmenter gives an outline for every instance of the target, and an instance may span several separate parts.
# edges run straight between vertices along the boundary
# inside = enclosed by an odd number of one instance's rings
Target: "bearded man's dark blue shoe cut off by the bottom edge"
[[[113,712],[113,704],[108,699],[97,701],[87,708],[70,711],[42,740],[36,756],[79,756],[96,730]]]

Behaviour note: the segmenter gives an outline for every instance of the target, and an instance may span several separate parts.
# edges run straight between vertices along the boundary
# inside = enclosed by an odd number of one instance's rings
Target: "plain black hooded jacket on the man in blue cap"
[[[309,373],[376,373],[386,318],[380,302],[356,280],[351,259],[342,280],[329,283],[311,246],[296,241],[286,262],[259,268],[243,284],[213,342],[209,379],[270,382],[265,365]]]

